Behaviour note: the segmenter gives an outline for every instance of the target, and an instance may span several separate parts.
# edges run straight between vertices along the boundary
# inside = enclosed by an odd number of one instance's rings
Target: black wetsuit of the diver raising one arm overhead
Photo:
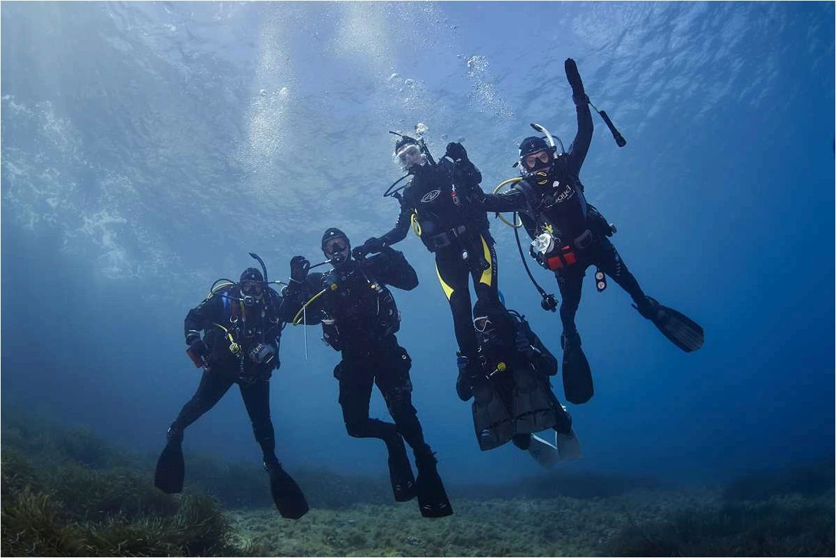
[[[640,307],[646,305],[645,294],[618,251],[609,242],[612,231],[609,223],[584,196],[584,185],[579,173],[584,164],[589,143],[592,141],[592,115],[585,97],[576,103],[578,133],[567,153],[554,161],[546,184],[526,179],[502,194],[479,197],[487,212],[519,212],[523,225],[531,238],[551,227],[556,251],[553,269],[558,279],[561,298],[560,319],[566,335],[577,333],[574,316],[580,303],[581,287],[586,269],[596,265],[627,291]],[[558,256],[557,251],[567,246],[568,253]]]

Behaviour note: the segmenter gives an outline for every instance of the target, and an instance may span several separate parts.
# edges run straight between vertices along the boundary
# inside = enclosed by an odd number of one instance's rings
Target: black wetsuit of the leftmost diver
[[[183,406],[172,430],[182,431],[203,413],[215,406],[221,397],[238,384],[247,413],[252,421],[252,432],[262,448],[264,462],[276,463],[276,440],[270,420],[270,376],[278,368],[278,343],[282,333],[281,308],[283,299],[273,289],[267,289],[263,299],[247,307],[240,298],[237,286],[223,289],[201,302],[186,315],[186,340],[205,331],[204,341],[209,347],[206,368],[197,392]],[[240,346],[238,356],[230,351],[231,341],[222,325]],[[268,365],[250,358],[253,348],[272,346],[275,356]]]

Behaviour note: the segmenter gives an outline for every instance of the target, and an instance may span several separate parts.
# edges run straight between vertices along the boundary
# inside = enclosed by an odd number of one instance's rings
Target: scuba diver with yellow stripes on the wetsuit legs
[[[391,132],[395,133],[395,132]],[[453,328],[459,346],[460,375],[474,378],[482,374],[478,346],[472,324],[472,301],[468,277],[472,277],[477,299],[498,304],[497,253],[488,230],[487,215],[472,203],[482,173],[467,158],[461,143],[449,143],[441,161],[432,158],[423,138],[400,136],[395,157],[406,172],[384,196],[400,202],[395,227],[383,236],[372,237],[355,248],[355,256],[377,253],[403,240],[412,226],[426,248],[436,256],[436,274],[453,315]],[[393,191],[406,177],[412,180]],[[403,192],[400,192],[402,190]]]

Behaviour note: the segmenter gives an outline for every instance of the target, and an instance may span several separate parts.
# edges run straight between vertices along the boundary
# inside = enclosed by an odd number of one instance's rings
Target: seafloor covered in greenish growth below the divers
[[[189,456],[186,494],[152,482],[155,456],[3,409],[3,555],[830,555],[833,462],[675,488],[594,474],[448,486],[427,520],[388,479],[292,471],[311,511],[283,520],[253,465]],[[555,477],[559,477],[556,479]]]

